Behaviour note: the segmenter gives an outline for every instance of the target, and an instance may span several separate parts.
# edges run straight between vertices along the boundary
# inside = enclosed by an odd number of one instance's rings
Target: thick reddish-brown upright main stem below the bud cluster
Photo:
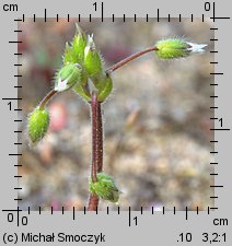
[[[92,114],[92,165],[91,178],[92,181],[97,181],[97,173],[103,169],[103,129],[102,129],[102,110],[101,102],[97,101],[95,92],[92,93],[91,98],[91,114]],[[89,198],[89,211],[96,211],[98,206],[98,197],[94,194]]]

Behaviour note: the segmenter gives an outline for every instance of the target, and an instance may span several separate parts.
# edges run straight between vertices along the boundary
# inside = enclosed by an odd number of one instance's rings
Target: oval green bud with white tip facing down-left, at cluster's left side
[[[78,63],[69,63],[60,69],[55,82],[55,91],[63,92],[81,81],[81,67]]]

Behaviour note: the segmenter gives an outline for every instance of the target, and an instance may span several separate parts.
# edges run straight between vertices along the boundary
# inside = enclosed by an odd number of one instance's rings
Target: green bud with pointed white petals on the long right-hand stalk
[[[202,52],[206,46],[188,43],[182,38],[167,38],[156,43],[155,52],[161,59],[175,59],[187,57],[193,52]]]

